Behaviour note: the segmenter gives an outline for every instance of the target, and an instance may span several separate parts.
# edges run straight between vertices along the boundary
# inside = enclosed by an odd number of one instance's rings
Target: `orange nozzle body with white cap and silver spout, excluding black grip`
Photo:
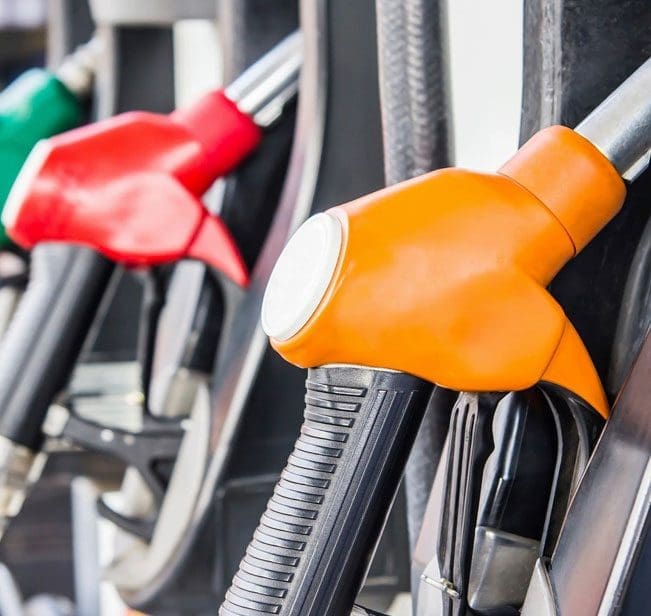
[[[545,287],[621,208],[651,157],[651,59],[575,131],[536,134],[496,174],[444,169],[318,214],[270,277],[262,325],[303,367],[391,369],[460,391],[548,381],[608,414]]]

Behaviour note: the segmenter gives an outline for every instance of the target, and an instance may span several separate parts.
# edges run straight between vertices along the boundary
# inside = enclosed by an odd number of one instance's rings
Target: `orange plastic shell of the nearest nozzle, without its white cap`
[[[330,210],[344,229],[330,286],[301,331],[272,340],[274,348],[303,367],[389,368],[461,391],[520,390],[546,380],[607,415],[588,352],[545,287],[589,229],[596,233],[621,207],[625,190],[621,180],[600,182],[597,217],[574,183],[588,183],[591,192],[608,161],[592,146],[587,154],[581,143],[572,150],[572,131],[552,131],[525,146],[527,164],[516,156],[500,175],[446,169]],[[578,157],[572,174],[568,151]],[[566,192],[544,195],[553,207],[532,192],[543,177],[542,170],[527,175],[536,160],[547,165],[549,183],[554,161],[563,166]],[[574,212],[572,203],[591,211]]]

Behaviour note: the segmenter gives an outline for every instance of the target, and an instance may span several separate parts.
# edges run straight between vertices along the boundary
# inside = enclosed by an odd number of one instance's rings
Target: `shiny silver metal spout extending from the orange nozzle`
[[[651,58],[575,129],[634,180],[651,157]]]

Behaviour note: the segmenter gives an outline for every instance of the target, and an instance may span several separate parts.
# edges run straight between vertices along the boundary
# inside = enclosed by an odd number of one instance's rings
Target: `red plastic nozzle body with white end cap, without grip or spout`
[[[191,257],[245,285],[233,238],[199,197],[260,138],[221,91],[169,116],[125,113],[40,142],[3,221],[24,248],[81,244],[133,267]]]

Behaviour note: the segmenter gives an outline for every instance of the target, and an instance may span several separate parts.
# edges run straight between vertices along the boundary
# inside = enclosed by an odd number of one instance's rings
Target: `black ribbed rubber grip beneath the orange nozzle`
[[[432,385],[349,366],[309,370],[305,421],[222,616],[349,614]]]

